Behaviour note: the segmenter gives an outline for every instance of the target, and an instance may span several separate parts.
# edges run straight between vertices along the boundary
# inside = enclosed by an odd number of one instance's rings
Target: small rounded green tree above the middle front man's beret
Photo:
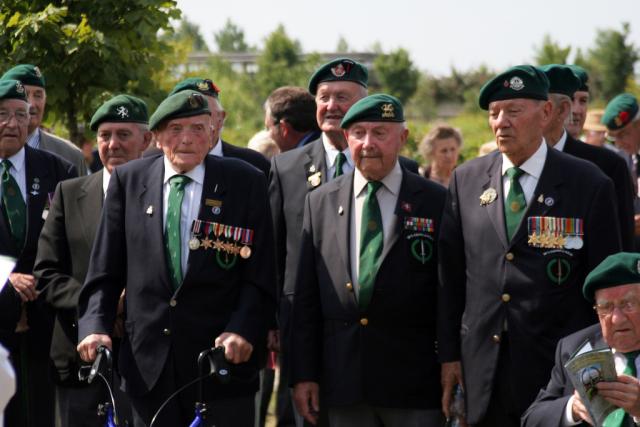
[[[416,69],[405,49],[381,54],[373,61],[381,91],[406,102],[416,92],[420,72]]]

